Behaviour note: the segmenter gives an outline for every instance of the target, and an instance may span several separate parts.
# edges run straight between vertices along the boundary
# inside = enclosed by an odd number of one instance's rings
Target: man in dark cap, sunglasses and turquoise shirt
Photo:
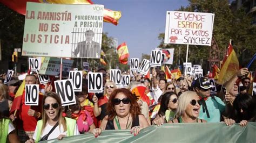
[[[197,92],[201,103],[198,118],[205,119],[210,123],[218,123],[225,111],[225,103],[219,97],[210,95],[212,87],[213,85],[206,77],[199,77],[194,82],[194,91]]]

